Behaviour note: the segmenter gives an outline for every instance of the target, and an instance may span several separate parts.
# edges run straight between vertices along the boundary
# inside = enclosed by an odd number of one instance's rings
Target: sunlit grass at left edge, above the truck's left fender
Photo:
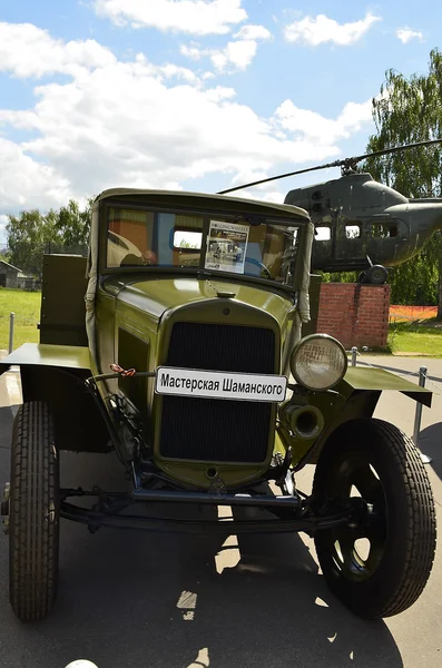
[[[13,347],[22,343],[38,343],[41,293],[24,292],[0,287],[0,350],[8,350],[9,314],[16,314],[13,327]]]

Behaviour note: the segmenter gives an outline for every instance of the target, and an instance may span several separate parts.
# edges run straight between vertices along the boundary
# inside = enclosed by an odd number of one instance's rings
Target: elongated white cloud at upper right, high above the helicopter
[[[286,26],[284,36],[289,42],[299,42],[313,47],[325,42],[346,47],[361,39],[373,23],[380,20],[380,17],[369,12],[360,21],[338,23],[334,19],[318,14],[316,18],[305,17]]]

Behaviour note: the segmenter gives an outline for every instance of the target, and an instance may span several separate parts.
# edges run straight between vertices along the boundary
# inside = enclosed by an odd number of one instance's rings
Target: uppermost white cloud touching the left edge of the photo
[[[114,53],[92,39],[67,43],[31,23],[0,22],[0,71],[17,77],[78,72],[116,62]]]

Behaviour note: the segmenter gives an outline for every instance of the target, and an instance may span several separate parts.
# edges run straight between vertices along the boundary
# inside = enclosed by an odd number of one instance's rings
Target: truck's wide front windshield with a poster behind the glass
[[[206,269],[291,285],[296,222],[262,220],[109,208],[107,266]]]

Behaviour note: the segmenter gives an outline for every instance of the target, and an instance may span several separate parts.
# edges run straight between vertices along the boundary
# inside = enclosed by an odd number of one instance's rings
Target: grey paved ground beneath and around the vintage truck
[[[385,364],[385,357],[370,357]],[[442,392],[442,360],[387,358],[409,375],[424,363]],[[0,379],[0,485],[9,477],[17,374]],[[376,415],[409,434],[414,402],[385,393]],[[442,525],[442,396],[423,411],[421,448]],[[66,484],[112,485],[114,460],[65,454]],[[303,474],[308,484],[311,472]],[[85,477],[87,480],[85,480]],[[115,485],[114,485],[115,487]],[[0,666],[63,668],[77,658],[99,668],[426,668],[442,664],[442,554],[412,609],[386,622],[347,612],[318,574],[310,541],[297,536],[187,539],[62,523],[55,613],[21,625],[8,603],[8,541],[0,534]]]

